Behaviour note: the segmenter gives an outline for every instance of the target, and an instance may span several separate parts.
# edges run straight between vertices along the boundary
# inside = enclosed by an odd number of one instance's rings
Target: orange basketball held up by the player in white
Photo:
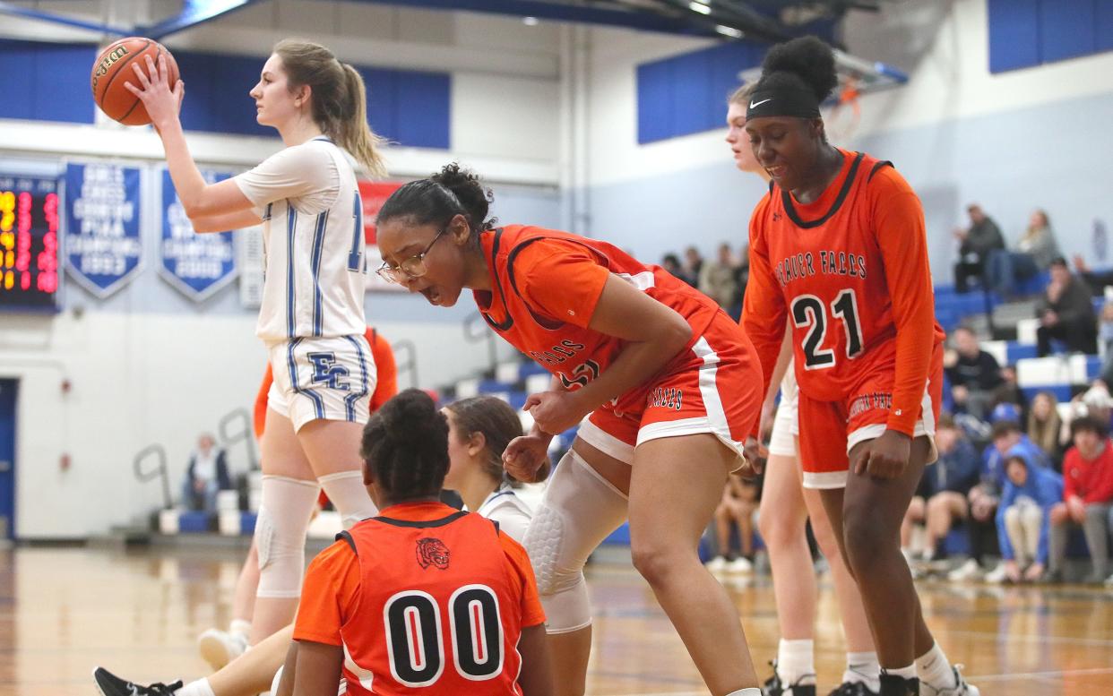
[[[156,68],[158,57],[166,56],[166,67],[170,72],[170,89],[174,89],[175,82],[178,81],[178,63],[174,61],[174,56],[158,41],[142,37],[128,37],[109,44],[100,56],[97,56],[97,62],[92,64],[92,74],[89,76],[92,100],[108,115],[108,118],[125,126],[150,123],[150,117],[147,116],[142,102],[124,87],[125,82],[141,87],[131,66],[138,64],[146,71],[145,56],[150,56]]]

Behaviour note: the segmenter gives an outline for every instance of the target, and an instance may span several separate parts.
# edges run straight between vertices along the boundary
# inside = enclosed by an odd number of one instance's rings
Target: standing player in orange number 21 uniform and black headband
[[[750,221],[742,324],[767,370],[791,327],[804,485],[861,590],[880,696],[977,696],[924,623],[899,548],[943,381],[924,215],[889,162],[828,143],[819,105],[836,82],[809,37],[770,49],[754,87],[746,132],[772,183]]]

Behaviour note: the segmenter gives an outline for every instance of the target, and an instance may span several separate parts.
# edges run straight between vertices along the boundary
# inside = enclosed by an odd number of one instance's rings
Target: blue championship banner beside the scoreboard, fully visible
[[[138,169],[66,167],[66,266],[101,299],[127,285],[141,266],[140,212]]]

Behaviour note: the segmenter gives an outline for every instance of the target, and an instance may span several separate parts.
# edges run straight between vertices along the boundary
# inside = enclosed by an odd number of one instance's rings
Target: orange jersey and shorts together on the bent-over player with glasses
[[[732,370],[700,375],[719,361],[752,366],[749,346],[707,296],[658,266],[644,266],[604,241],[540,227],[508,225],[480,237],[495,279],[493,292],[475,290],[483,318],[508,342],[546,368],[563,389],[578,390],[604,372],[626,341],[588,325],[607,280],[617,276],[677,311],[691,327],[688,350],[658,378],[636,385],[592,411],[580,432],[604,451],[628,459],[639,443],[715,432],[741,453],[755,410],[746,396],[756,385]],[[559,319],[558,319],[559,317]],[[729,380],[729,381],[728,381]]]

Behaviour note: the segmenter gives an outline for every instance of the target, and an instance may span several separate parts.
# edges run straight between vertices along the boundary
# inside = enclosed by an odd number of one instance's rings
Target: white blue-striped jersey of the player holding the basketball
[[[366,257],[355,170],[328,138],[286,148],[238,175],[263,218],[264,341],[362,336]]]

